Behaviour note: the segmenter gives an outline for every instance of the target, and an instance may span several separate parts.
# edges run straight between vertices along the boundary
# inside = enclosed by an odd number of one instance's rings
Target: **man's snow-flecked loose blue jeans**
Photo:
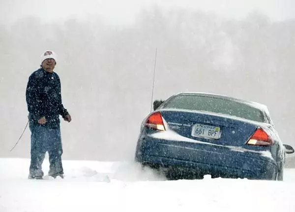
[[[60,128],[51,129],[30,121],[29,129],[31,131],[29,175],[43,177],[42,163],[46,152],[50,163],[48,175],[63,174]]]

